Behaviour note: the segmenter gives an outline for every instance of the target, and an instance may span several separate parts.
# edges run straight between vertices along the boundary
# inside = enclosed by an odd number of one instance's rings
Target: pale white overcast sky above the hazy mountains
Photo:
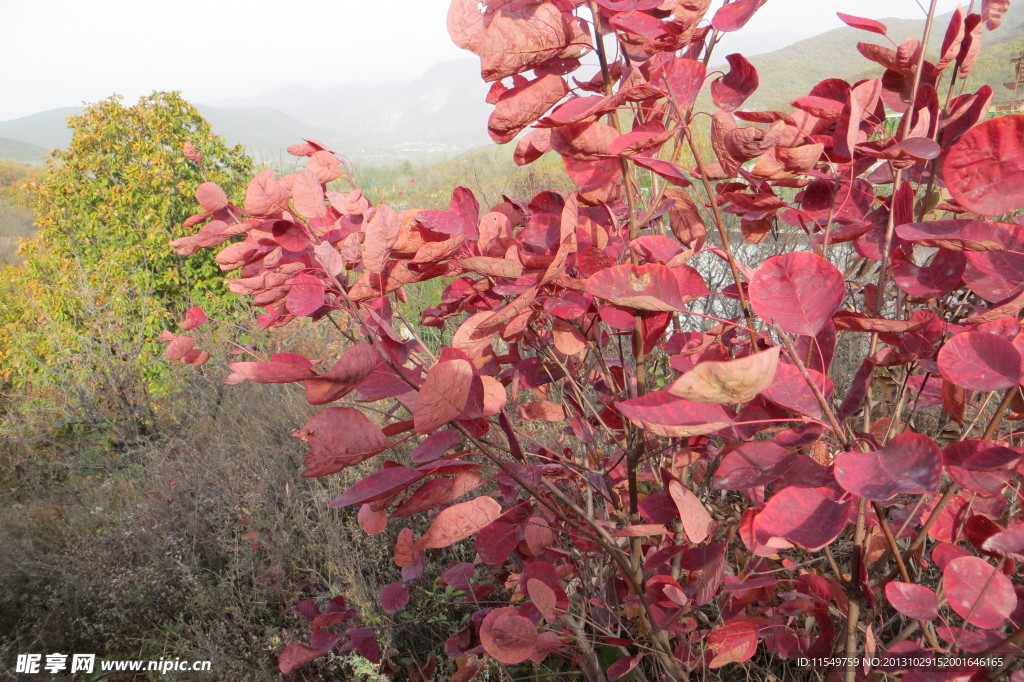
[[[939,0],[939,9],[956,4]],[[153,90],[181,90],[186,99],[212,103],[288,83],[412,80],[438,61],[472,56],[449,40],[447,5],[0,0],[0,121],[114,92],[134,101]],[[768,0],[748,30],[786,44],[841,26],[837,11],[924,15],[915,0]]]

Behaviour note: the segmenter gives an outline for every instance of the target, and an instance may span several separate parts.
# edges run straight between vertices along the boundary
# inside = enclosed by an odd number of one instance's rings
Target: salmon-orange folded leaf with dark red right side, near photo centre
[[[479,415],[483,384],[473,366],[461,358],[437,363],[427,372],[413,411],[417,433],[430,433],[467,411]]]

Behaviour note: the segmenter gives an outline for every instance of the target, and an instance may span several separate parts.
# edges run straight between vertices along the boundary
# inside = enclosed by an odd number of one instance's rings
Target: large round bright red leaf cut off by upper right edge
[[[946,155],[942,175],[956,203],[975,213],[996,216],[1024,206],[1024,114],[967,131]]]

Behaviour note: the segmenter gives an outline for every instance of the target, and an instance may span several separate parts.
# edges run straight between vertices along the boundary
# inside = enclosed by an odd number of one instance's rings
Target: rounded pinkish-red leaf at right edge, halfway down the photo
[[[1021,354],[998,334],[963,332],[939,350],[942,378],[972,391],[994,391],[1021,383]]]

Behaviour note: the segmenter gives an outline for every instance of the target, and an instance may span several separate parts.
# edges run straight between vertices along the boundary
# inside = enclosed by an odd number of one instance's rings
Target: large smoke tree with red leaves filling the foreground
[[[226,380],[325,406],[295,432],[303,475],[371,463],[332,506],[397,530],[383,610],[463,548],[440,579],[472,609],[444,634],[454,680],[555,658],[588,680],[800,658],[924,680],[907,660],[950,654],[973,658],[943,679],[984,679],[1024,639],[1024,116],[959,93],[1000,3],[941,27],[933,2],[921,39],[858,46],[876,78],[751,111],[754,66],[708,65],[764,2],[455,0],[492,137],[560,156],[568,194],[396,212],[311,140],[240,207],[197,189],[180,251],[219,248],[260,328],[351,342]],[[300,612],[282,671],[379,659],[340,597]]]

